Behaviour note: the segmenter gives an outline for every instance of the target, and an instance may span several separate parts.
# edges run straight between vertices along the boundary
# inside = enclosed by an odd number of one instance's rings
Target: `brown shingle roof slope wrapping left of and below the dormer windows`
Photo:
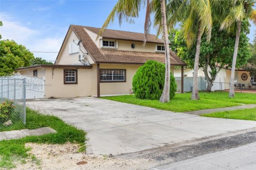
[[[164,53],[148,53],[148,52],[131,52],[124,50],[115,50],[115,49],[99,49],[91,37],[85,31],[84,26],[79,25],[70,25],[74,30],[77,37],[82,39],[82,44],[87,49],[89,54],[93,57],[95,62],[106,62],[106,63],[138,63],[142,64],[148,60],[155,60],[158,62],[165,62]],[[89,27],[86,27],[86,29]],[[92,27],[90,27],[92,28]],[[98,29],[98,28],[95,28]],[[92,29],[91,29],[92,30]],[[90,31],[91,31],[90,30]],[[116,30],[110,30],[116,31]],[[130,32],[131,34],[133,32]],[[136,35],[137,33],[135,33]],[[186,65],[175,53],[172,51],[171,54],[171,65]]]

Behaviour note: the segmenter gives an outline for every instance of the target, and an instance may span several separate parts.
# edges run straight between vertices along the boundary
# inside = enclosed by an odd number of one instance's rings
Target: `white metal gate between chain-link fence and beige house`
[[[15,74],[12,79],[26,79],[26,99],[39,99],[45,97],[45,80],[28,75]]]

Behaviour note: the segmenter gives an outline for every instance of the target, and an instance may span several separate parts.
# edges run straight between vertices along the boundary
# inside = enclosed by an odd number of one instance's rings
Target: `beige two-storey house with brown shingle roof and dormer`
[[[148,60],[164,63],[163,40],[144,34],[70,25],[54,65],[17,69],[22,75],[45,79],[45,98],[131,94],[132,78]],[[171,70],[186,63],[173,52]],[[181,76],[183,77],[183,76]],[[182,81],[181,81],[182,82]],[[178,84],[182,89],[183,83]]]

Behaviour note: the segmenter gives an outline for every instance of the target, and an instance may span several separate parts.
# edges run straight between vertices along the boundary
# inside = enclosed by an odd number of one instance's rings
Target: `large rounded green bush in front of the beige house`
[[[149,60],[139,67],[132,81],[132,89],[135,97],[140,99],[160,99],[164,88],[165,65]],[[170,99],[175,96],[177,84],[171,73]]]

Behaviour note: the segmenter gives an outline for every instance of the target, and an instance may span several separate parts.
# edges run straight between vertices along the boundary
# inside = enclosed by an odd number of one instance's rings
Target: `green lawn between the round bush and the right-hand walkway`
[[[238,106],[241,104],[256,104],[256,94],[236,93],[235,98],[229,98],[228,92],[199,92],[200,100],[190,100],[190,96],[190,93],[176,94],[170,103],[164,104],[159,103],[158,100],[137,99],[134,95],[101,98],[174,112],[189,112],[201,109]]]

